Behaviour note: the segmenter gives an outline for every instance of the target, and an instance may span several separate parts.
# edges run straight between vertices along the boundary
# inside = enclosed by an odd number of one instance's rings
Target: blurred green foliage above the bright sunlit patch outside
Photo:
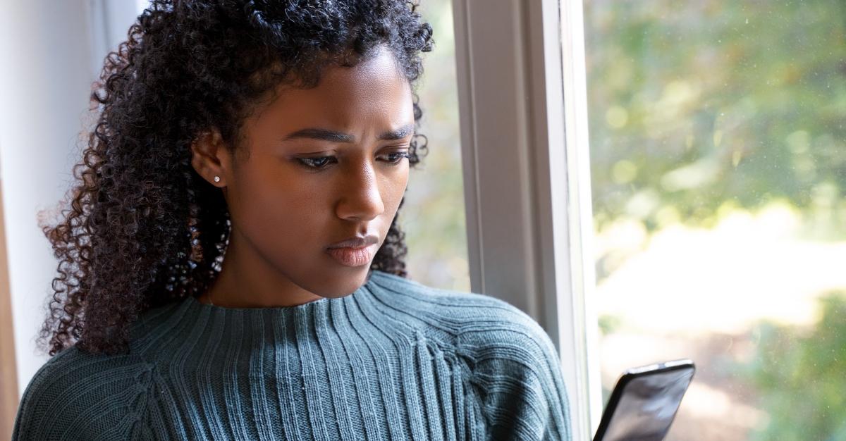
[[[846,226],[846,2],[585,1],[597,229],[786,200]]]

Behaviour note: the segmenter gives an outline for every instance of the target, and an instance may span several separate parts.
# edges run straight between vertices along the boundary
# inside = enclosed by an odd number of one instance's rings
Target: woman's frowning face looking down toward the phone
[[[414,123],[408,81],[387,51],[327,68],[316,88],[281,87],[224,161],[229,249],[318,296],[355,291],[403,198]],[[354,237],[365,248],[332,250]]]

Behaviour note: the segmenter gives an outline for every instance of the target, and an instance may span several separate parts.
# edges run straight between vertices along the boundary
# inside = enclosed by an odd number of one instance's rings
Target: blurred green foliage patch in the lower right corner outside
[[[846,439],[846,292],[820,298],[813,329],[761,324],[744,373],[759,391],[769,422],[750,439]]]

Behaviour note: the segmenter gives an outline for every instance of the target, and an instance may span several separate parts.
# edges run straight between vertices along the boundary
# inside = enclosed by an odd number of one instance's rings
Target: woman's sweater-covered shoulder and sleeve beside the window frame
[[[569,401],[558,351],[547,332],[514,305],[380,273],[376,286],[409,314],[452,329],[466,363],[467,399],[479,438],[569,440]]]

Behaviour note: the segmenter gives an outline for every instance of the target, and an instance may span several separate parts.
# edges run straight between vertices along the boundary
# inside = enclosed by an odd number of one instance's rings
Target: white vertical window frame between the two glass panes
[[[573,439],[602,412],[579,0],[453,0],[471,289],[558,347]]]

